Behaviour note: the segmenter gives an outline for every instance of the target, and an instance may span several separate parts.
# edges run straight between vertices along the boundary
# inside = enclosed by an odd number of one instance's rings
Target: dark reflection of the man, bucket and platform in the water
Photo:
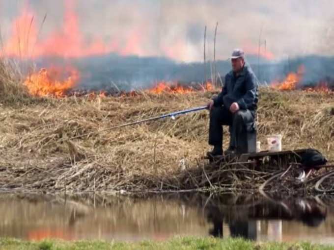
[[[207,221],[213,225],[209,229],[210,235],[223,237],[225,224],[229,229],[229,236],[250,240],[257,240],[262,236],[262,240],[281,241],[284,233],[282,222],[285,225],[300,222],[295,226],[299,231],[303,230],[303,225],[319,227],[327,217],[327,206],[319,202],[319,198],[265,199],[251,205],[226,205],[213,199],[205,210]],[[330,233],[332,234],[332,230]]]

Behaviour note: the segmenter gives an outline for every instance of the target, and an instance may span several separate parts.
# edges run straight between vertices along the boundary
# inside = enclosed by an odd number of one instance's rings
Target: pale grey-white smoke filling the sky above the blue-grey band
[[[121,55],[166,56],[176,61],[201,61],[204,27],[208,27],[208,56],[213,56],[216,22],[217,58],[225,59],[236,47],[257,53],[258,39],[266,39],[271,59],[287,55],[333,54],[324,37],[333,16],[331,0],[222,1],[222,0],[0,0],[2,35],[23,9],[40,24],[41,39],[62,27],[70,6],[78,17],[85,42],[98,37]],[[325,33],[324,33],[325,31]],[[326,41],[328,39],[328,41]],[[112,46],[111,46],[112,45]],[[263,41],[262,41],[263,49]]]

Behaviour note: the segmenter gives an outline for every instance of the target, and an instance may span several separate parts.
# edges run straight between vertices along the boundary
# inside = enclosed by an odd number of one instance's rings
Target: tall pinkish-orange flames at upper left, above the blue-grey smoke
[[[57,30],[47,31],[49,34],[46,38],[42,37],[40,28],[37,28],[34,13],[27,9],[23,10],[12,24],[12,35],[4,42],[2,53],[6,56],[36,58],[41,56],[82,57],[108,52],[121,54],[133,52],[127,47],[118,48],[119,42],[116,40],[106,44],[101,38],[93,37],[88,43],[80,31],[73,1],[64,2],[63,24]],[[41,30],[43,31],[43,27]]]

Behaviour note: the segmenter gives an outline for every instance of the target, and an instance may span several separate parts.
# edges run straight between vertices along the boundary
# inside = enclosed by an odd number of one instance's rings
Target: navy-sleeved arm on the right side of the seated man
[[[246,84],[246,94],[237,100],[240,109],[249,109],[255,105],[256,92],[257,92],[257,79],[255,75],[250,74],[247,76]]]

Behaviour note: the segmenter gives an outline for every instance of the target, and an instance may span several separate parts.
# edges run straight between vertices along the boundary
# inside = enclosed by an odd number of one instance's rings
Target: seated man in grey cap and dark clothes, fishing
[[[231,141],[228,151],[238,145],[238,134],[253,123],[257,108],[258,80],[245,62],[243,50],[233,50],[232,71],[225,75],[222,92],[207,105],[210,109],[209,144],[214,146],[210,156],[223,154],[223,127],[230,126]]]

